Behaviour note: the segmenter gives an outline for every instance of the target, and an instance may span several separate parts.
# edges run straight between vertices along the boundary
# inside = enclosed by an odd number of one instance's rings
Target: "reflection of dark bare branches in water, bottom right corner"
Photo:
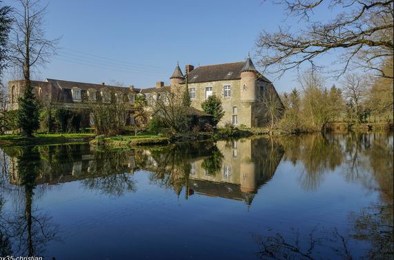
[[[355,253],[360,252],[355,252],[349,245],[362,240],[370,244],[363,259],[392,259],[392,210],[392,206],[373,207],[359,214],[352,213],[348,234],[336,228],[326,230],[318,226],[309,234],[300,234],[293,229],[273,235],[253,234],[260,248],[257,254],[261,259],[355,259]]]

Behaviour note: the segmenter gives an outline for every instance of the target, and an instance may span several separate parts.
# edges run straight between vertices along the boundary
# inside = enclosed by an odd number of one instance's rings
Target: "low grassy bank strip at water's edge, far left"
[[[34,146],[41,144],[87,143],[95,134],[35,134],[25,138],[20,135],[0,135],[0,146]]]

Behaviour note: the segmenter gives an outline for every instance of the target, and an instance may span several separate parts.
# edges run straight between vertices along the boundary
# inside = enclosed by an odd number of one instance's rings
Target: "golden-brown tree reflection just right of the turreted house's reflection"
[[[305,190],[315,190],[322,182],[326,170],[335,170],[342,163],[344,153],[339,139],[333,135],[310,134],[280,139],[284,146],[284,159],[304,165],[301,175]]]

